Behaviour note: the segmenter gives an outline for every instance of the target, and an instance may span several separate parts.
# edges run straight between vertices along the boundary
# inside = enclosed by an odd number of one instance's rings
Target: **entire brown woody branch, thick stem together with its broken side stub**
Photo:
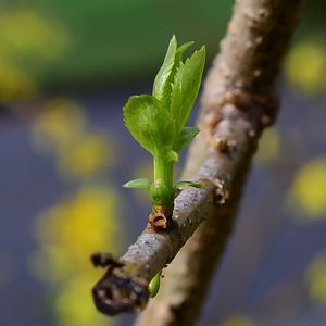
[[[222,53],[205,83],[199,123],[202,135],[192,146],[187,165],[191,175],[201,166],[193,180],[203,181],[205,187],[181,191],[166,230],[156,231],[148,225],[121,259],[93,258],[96,265],[108,267],[92,290],[101,312],[114,315],[143,308],[149,280],[172,262],[205,222],[183,251],[183,264],[174,264],[174,276],[164,280],[166,286],[171,281],[174,289],[165,291],[166,296],[162,289],[162,301],[158,300],[161,309],[153,311],[149,306],[139,325],[193,323],[214,269],[213,262],[222,255],[230,234],[260,134],[276,116],[275,80],[300,2],[237,2]],[[176,272],[180,266],[186,275]],[[192,289],[198,292],[189,296]]]

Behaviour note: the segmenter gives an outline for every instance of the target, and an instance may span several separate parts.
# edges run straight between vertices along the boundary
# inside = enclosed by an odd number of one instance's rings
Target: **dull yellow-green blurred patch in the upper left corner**
[[[0,100],[34,97],[38,80],[30,66],[53,61],[67,50],[68,42],[66,29],[58,21],[0,3]]]

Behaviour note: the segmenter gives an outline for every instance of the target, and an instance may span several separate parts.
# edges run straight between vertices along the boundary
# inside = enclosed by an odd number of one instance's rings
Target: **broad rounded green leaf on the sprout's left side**
[[[172,117],[154,97],[130,97],[123,111],[127,128],[152,155],[172,148],[175,137]]]

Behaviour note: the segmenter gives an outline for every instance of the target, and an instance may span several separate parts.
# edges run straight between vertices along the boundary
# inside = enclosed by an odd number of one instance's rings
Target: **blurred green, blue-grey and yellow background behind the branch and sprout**
[[[146,224],[150,156],[123,125],[167,42],[206,45],[230,0],[0,0],[0,325],[131,325],[96,312],[93,251]],[[326,4],[309,1],[200,326],[326,324]],[[192,120],[197,112],[195,112]],[[178,171],[181,170],[181,164]]]

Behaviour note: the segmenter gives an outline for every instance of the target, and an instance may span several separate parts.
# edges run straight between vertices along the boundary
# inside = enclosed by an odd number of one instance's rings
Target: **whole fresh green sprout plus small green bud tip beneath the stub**
[[[126,127],[139,145],[152,154],[154,161],[153,180],[139,178],[123,187],[149,191],[152,202],[150,223],[156,229],[168,226],[177,190],[202,187],[202,184],[192,181],[174,185],[173,179],[178,153],[199,133],[197,127],[185,126],[198,96],[205,63],[204,47],[183,60],[184,53],[192,45],[188,42],[177,47],[173,36],[155,77],[152,95],[133,96],[123,109]],[[151,294],[158,290],[160,275],[150,284]]]

